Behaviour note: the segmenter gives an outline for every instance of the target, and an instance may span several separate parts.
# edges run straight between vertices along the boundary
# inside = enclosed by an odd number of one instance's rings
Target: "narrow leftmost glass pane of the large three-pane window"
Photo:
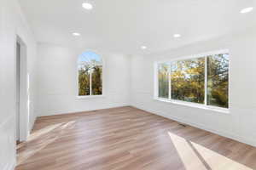
[[[170,64],[163,63],[158,65],[158,82],[159,82],[159,97],[168,98],[169,97],[169,79],[168,71]]]

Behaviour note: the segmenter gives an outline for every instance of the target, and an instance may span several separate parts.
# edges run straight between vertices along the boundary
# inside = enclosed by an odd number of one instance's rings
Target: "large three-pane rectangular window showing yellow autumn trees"
[[[159,63],[158,98],[229,108],[229,53]]]

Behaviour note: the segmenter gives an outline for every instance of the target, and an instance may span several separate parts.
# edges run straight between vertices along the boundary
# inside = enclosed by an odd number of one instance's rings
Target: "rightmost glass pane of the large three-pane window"
[[[207,57],[207,105],[229,107],[229,54]]]

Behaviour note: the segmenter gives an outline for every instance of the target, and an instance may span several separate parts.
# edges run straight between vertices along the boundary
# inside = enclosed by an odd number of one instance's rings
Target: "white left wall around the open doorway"
[[[19,3],[16,0],[0,1],[0,169],[12,169],[15,164],[15,44],[16,35],[19,35],[27,46],[27,74],[30,74],[26,104],[22,116],[26,126],[23,128],[23,137],[26,138],[33,125],[34,97],[34,62],[36,42],[28,29]],[[27,119],[26,119],[27,117]]]

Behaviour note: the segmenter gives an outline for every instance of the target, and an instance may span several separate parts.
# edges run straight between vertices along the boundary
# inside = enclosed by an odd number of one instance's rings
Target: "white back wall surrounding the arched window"
[[[103,97],[77,99],[77,59],[86,51],[38,44],[38,116],[129,105],[130,58],[96,51],[103,58]]]

